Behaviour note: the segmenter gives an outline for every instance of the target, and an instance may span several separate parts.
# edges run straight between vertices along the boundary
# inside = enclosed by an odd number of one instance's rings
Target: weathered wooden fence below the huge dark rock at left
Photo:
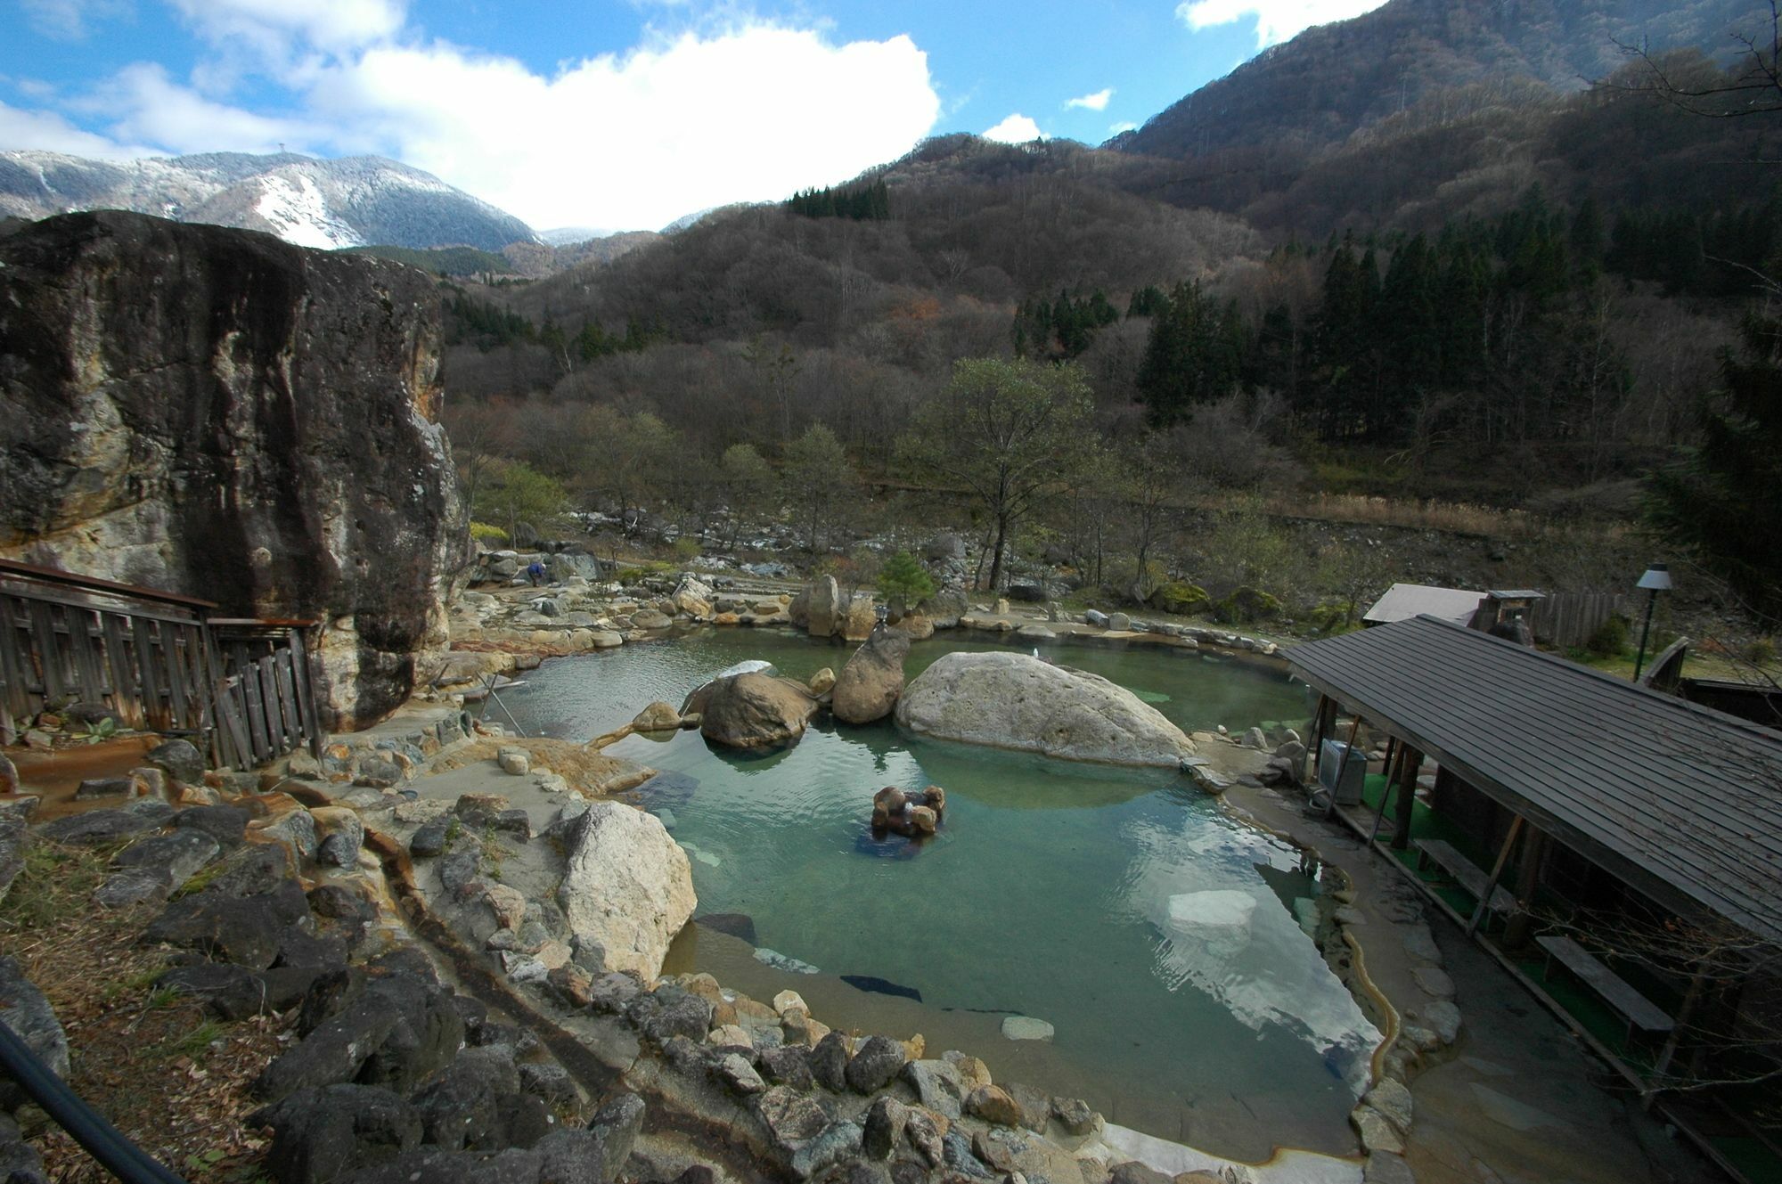
[[[225,621],[159,588],[0,560],[0,742],[71,703],[251,769],[326,735],[308,622]]]

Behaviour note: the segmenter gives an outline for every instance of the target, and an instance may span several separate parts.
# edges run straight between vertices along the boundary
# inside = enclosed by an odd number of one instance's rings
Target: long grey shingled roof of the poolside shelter
[[[1654,900],[1782,940],[1782,733],[1436,617],[1287,658]]]

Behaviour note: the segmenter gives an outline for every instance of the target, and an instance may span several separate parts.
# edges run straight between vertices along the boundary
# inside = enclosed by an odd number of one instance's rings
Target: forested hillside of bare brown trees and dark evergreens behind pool
[[[943,137],[615,260],[463,285],[454,439],[588,505],[690,524],[763,473],[805,473],[793,485],[814,496],[813,465],[944,489],[911,426],[957,396],[960,358],[1028,357],[1082,380],[1101,456],[1085,473],[1164,483],[1123,487],[1128,506],[1367,492],[1631,519],[1775,291],[1782,116],[1664,102],[1650,61],[1565,86],[1620,61],[1629,12],[1654,43],[1725,37],[1736,16],[1394,0],[1196,95],[1267,98],[1276,125],[1251,121],[1242,144],[1132,152],[1162,143],[1164,118],[1123,150]],[[1299,64],[1290,82],[1269,82],[1276,59]],[[1748,64],[1652,61],[1700,89]],[[1365,98],[1356,78],[1392,62],[1418,82],[1390,111],[1279,123],[1312,119],[1317,95]],[[1073,514],[1108,494],[1059,481],[1046,530],[1076,537]],[[1158,553],[1139,547],[1140,569]]]

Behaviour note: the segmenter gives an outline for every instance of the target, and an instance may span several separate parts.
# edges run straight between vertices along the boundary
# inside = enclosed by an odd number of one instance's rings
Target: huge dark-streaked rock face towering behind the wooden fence
[[[0,555],[324,622],[328,724],[446,642],[465,508],[417,271],[121,212],[0,237]]]

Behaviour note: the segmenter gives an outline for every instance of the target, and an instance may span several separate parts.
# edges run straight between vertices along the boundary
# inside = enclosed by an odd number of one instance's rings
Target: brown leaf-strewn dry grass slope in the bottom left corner
[[[192,1184],[264,1179],[264,1139],[242,1127],[248,1084],[278,1052],[278,1016],[217,1024],[153,988],[166,952],[137,938],[155,908],[98,909],[110,851],[34,843],[0,902],[0,952],[16,956],[68,1032],[69,1084],[125,1136]],[[36,1114],[36,1111],[27,1111]],[[52,1180],[110,1180],[61,1127],[27,1134]]]

